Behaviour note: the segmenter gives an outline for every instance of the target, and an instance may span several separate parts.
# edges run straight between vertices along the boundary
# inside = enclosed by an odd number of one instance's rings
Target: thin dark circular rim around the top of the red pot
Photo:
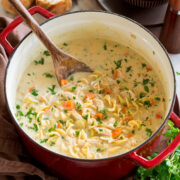
[[[37,143],[32,137],[30,137],[27,133],[24,132],[24,130],[20,127],[20,125],[17,123],[14,115],[12,114],[11,110],[10,110],[10,107],[9,107],[9,103],[8,103],[8,100],[7,100],[7,93],[6,93],[6,81],[7,81],[7,76],[8,76],[8,69],[9,69],[9,65],[11,63],[11,59],[13,58],[13,55],[16,53],[16,50],[19,48],[19,46],[21,45],[21,43],[23,43],[23,41],[30,35],[32,34],[32,31],[30,31],[22,40],[21,42],[14,48],[14,51],[13,53],[11,54],[10,58],[9,58],[9,61],[8,61],[8,64],[7,64],[7,68],[6,68],[6,72],[5,72],[5,85],[4,85],[4,92],[5,92],[5,100],[6,100],[6,104],[7,104],[7,107],[8,107],[8,110],[10,112],[10,115],[13,119],[13,121],[15,122],[16,126],[19,128],[19,130],[21,131],[21,133],[23,133],[23,135],[25,135],[32,143],[34,143],[35,145],[39,146],[40,148],[42,148],[43,150],[49,152],[49,153],[52,153],[53,155],[56,155],[56,156],[60,156],[60,157],[63,157],[63,158],[67,158],[69,160],[75,160],[75,161],[83,161],[83,162],[96,162],[96,161],[104,161],[104,160],[113,160],[113,159],[116,159],[116,158],[120,158],[122,156],[125,156],[125,155],[128,155],[136,150],[138,150],[139,148],[141,148],[142,146],[144,146],[145,144],[147,144],[150,140],[152,140],[159,132],[160,130],[164,127],[165,123],[167,122],[171,112],[173,111],[173,106],[174,106],[174,103],[175,103],[175,98],[176,98],[176,78],[175,78],[175,72],[174,72],[174,68],[173,68],[173,65],[172,65],[172,62],[170,60],[170,57],[168,55],[168,52],[167,50],[165,49],[165,47],[162,45],[162,43],[159,41],[159,39],[151,32],[149,31],[147,28],[145,28],[143,25],[141,25],[140,23],[136,22],[135,20],[129,18],[129,17],[126,17],[126,16],[123,16],[123,15],[120,15],[120,14],[117,14],[117,13],[113,13],[113,12],[106,12],[106,11],[100,11],[100,10],[83,10],[83,11],[74,11],[74,12],[68,12],[68,13],[65,13],[65,14],[61,14],[61,15],[58,15],[58,16],[54,16],[48,20],[46,20],[45,22],[41,23],[40,26],[48,23],[49,21],[51,20],[54,20],[55,18],[59,18],[61,16],[67,16],[67,15],[71,15],[71,14],[76,14],[76,13],[105,13],[105,14],[111,14],[111,15],[114,15],[114,16],[118,16],[118,17],[121,17],[121,18],[124,18],[126,20],[129,20],[131,21],[132,23],[136,24],[137,26],[139,26],[140,28],[144,29],[147,33],[149,33],[158,43],[159,45],[161,46],[161,48],[164,50],[164,53],[166,54],[167,56],[167,59],[169,60],[169,63],[170,63],[170,66],[171,66],[171,69],[172,69],[172,73],[173,73],[173,81],[174,81],[174,92],[173,92],[173,99],[172,99],[172,103],[171,103],[171,106],[169,108],[169,112],[168,114],[166,115],[166,117],[164,118],[164,122],[161,124],[161,126],[156,130],[156,132],[153,133],[153,135],[151,135],[148,139],[146,139],[143,143],[141,143],[140,145],[136,146],[134,149],[131,149],[130,151],[127,151],[125,153],[122,153],[122,154],[118,154],[118,155],[115,155],[115,156],[112,156],[112,157],[105,157],[105,158],[100,158],[100,159],[85,159],[85,158],[74,158],[74,157],[70,157],[70,156],[67,156],[67,155],[64,155],[64,154],[60,154],[60,153],[57,153],[57,152],[54,152],[54,151],[51,151],[49,150],[48,148],[45,148],[44,146],[40,145],[39,143]],[[23,143],[24,144],[24,143]]]

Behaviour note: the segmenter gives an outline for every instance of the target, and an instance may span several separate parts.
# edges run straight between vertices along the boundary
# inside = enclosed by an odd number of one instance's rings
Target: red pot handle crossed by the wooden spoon
[[[34,14],[38,13],[38,14],[42,15],[43,17],[47,18],[47,19],[52,18],[52,17],[55,16],[53,13],[47,11],[46,9],[43,9],[40,6],[34,6],[34,7],[30,8],[28,11],[29,11],[29,13],[31,15],[34,15]],[[23,22],[23,18],[20,17],[20,16],[17,17],[0,34],[0,43],[3,45],[3,47],[5,48],[5,50],[7,51],[7,53],[9,55],[12,54],[12,52],[14,51],[14,48],[8,42],[7,37],[22,22]]]

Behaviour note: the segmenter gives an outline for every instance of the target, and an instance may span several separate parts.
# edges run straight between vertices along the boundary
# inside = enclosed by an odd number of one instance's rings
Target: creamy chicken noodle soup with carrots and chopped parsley
[[[18,87],[16,117],[32,139],[56,153],[97,159],[135,148],[160,127],[163,84],[140,54],[98,38],[60,47],[94,72],[73,74],[59,87],[48,51],[30,59]]]

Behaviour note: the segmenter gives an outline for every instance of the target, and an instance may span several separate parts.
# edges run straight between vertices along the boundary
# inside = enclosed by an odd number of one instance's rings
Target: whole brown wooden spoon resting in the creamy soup
[[[48,51],[51,53],[51,57],[54,63],[55,73],[59,84],[61,85],[61,80],[67,79],[73,73],[76,72],[93,72],[89,66],[80,62],[76,58],[69,54],[66,54],[61,49],[59,49],[45,34],[41,29],[39,24],[27,11],[27,9],[22,5],[19,0],[9,0],[16,11],[21,15],[26,24],[32,29],[36,36],[45,45]]]

